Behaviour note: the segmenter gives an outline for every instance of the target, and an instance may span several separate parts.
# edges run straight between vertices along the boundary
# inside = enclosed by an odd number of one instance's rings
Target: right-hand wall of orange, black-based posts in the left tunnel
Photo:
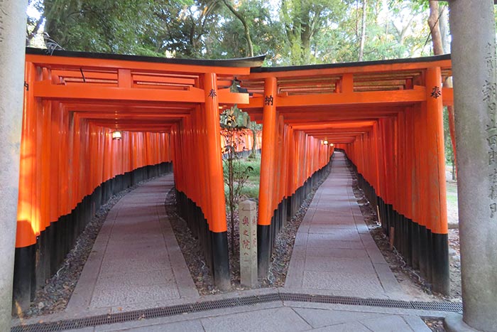
[[[226,202],[222,166],[217,75],[200,82],[205,102],[173,127],[173,163],[180,214],[200,240],[214,282],[231,287],[229,277]]]

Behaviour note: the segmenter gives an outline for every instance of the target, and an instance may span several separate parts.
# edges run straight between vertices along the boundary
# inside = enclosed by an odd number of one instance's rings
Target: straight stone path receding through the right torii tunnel
[[[285,289],[312,294],[402,299],[352,192],[342,152],[317,190],[295,238]]]

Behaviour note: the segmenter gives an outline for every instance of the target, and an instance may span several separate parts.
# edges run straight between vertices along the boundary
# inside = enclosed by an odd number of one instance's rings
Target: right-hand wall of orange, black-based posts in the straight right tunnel
[[[378,206],[381,225],[405,262],[434,291],[449,294],[447,201],[440,68],[424,73],[426,101],[378,119],[354,143],[338,144]]]

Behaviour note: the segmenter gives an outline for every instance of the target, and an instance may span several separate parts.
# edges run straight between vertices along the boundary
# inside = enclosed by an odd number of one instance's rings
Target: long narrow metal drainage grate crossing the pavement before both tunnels
[[[359,297],[352,296],[273,293],[260,296],[253,295],[235,297],[231,299],[204,301],[192,304],[178,304],[175,306],[164,306],[161,308],[128,311],[65,321],[55,321],[53,323],[35,323],[24,326],[14,326],[13,328],[11,328],[11,332],[65,331],[75,328],[85,328],[89,326],[99,326],[113,323],[124,323],[126,321],[138,321],[141,319],[168,317],[180,314],[188,314],[192,312],[233,308],[237,306],[249,306],[253,304],[262,304],[274,301],[345,304],[349,306],[377,306],[383,308],[418,309],[430,311],[462,311],[462,304],[452,302],[398,301],[391,299],[361,299]]]

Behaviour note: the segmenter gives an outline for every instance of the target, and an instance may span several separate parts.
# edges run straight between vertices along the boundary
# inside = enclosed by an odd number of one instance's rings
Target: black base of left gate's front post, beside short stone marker
[[[222,291],[231,289],[229,279],[228,232],[211,232],[214,284]]]

